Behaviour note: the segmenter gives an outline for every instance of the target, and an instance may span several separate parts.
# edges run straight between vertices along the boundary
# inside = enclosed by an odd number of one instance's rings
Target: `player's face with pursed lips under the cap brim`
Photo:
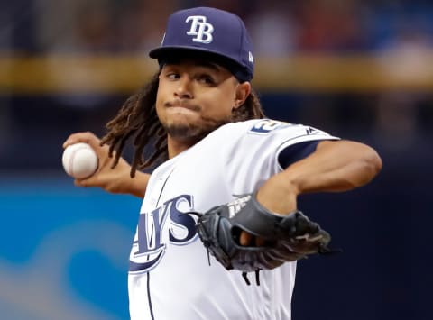
[[[167,63],[161,69],[156,112],[171,138],[198,142],[230,122],[232,110],[240,105],[242,86],[217,64]]]

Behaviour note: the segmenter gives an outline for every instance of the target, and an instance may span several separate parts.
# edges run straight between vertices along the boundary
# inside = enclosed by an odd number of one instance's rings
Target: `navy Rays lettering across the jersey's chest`
[[[183,211],[180,211],[180,207]],[[167,243],[164,243],[162,236],[166,227],[169,227],[169,240],[172,244],[185,245],[197,238],[196,221],[192,216],[184,214],[192,208],[192,197],[182,195],[166,201],[151,213],[140,215],[129,258],[130,273],[148,272],[158,265],[167,250]],[[170,224],[166,225],[167,223]]]

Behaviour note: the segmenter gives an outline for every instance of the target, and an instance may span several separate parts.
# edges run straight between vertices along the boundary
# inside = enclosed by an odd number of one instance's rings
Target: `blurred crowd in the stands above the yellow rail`
[[[429,0],[16,0],[0,15],[0,49],[147,51],[160,43],[169,14],[195,5],[240,15],[260,56],[433,45]]]

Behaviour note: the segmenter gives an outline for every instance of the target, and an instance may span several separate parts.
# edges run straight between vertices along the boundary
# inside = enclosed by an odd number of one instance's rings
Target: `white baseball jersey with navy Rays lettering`
[[[226,270],[195,232],[195,217],[251,193],[281,171],[278,155],[299,142],[337,139],[317,129],[272,121],[227,123],[152,172],[130,254],[133,320],[290,320],[296,262],[254,273],[247,286]]]

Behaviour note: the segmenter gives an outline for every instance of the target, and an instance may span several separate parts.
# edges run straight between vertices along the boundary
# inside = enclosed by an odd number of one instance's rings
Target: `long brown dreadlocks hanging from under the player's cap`
[[[157,160],[168,159],[167,133],[158,119],[155,108],[159,84],[158,76],[159,72],[152,76],[145,87],[125,101],[115,118],[106,123],[108,133],[101,140],[101,145],[108,144],[110,146],[110,157],[113,157],[115,152],[115,160],[112,165],[112,168],[115,168],[126,142],[134,138],[135,151],[131,165],[131,178],[134,178],[137,169],[146,169],[155,164]],[[231,121],[238,122],[263,117],[262,105],[252,90],[244,105],[234,109]],[[154,151],[147,159],[144,159],[144,148],[152,141],[154,142]]]

